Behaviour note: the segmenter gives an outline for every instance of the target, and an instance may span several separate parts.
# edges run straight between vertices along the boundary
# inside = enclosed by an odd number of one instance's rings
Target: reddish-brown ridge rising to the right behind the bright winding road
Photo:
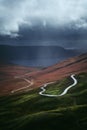
[[[69,58],[68,60],[50,66],[41,72],[34,73],[32,78],[35,78],[37,84],[39,84],[41,81],[43,83],[56,81],[70,76],[71,74],[79,74],[83,72],[87,73],[87,53]]]

